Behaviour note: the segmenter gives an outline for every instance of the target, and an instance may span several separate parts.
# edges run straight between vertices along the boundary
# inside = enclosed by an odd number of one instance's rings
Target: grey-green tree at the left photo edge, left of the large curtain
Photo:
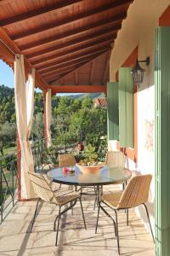
[[[14,123],[4,123],[0,125],[0,153],[3,156],[5,146],[10,146],[16,141],[16,125]]]

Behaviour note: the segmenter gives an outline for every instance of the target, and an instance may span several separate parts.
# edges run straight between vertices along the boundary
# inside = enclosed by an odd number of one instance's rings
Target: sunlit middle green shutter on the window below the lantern
[[[132,68],[119,69],[119,140],[121,148],[134,147]]]

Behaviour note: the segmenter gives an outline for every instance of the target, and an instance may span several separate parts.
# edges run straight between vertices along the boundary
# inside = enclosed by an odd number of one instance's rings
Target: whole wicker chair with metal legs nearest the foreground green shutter
[[[150,217],[149,217],[148,209],[145,203],[146,201],[148,201],[148,197],[149,197],[151,178],[152,176],[150,174],[133,177],[127,184],[127,187],[125,188],[124,191],[118,191],[115,193],[101,196],[101,199],[99,201],[99,209],[105,212],[105,214],[108,217],[110,217],[113,221],[119,254],[120,254],[120,245],[119,245],[117,211],[144,205],[147,218],[150,224]],[[104,203],[107,207],[110,207],[111,209],[114,210],[116,215],[116,221],[111,217],[111,215],[108,212],[106,212],[105,208],[101,206],[101,203]],[[99,209],[98,209],[98,217],[96,222],[95,233],[97,233],[97,228],[98,228]],[[153,241],[155,242],[153,231],[151,229],[151,224],[150,224],[150,231],[151,231]]]

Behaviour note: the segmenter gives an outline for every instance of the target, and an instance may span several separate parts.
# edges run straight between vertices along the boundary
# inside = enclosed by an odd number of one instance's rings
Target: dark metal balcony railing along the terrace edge
[[[52,140],[53,146],[46,147],[46,139],[42,138],[35,142],[31,142],[31,151],[34,160],[35,172],[43,171],[47,164],[58,164],[59,154],[72,153],[79,155],[77,144],[83,141],[82,137],[74,139]],[[100,152],[100,157],[105,159],[106,149]],[[100,148],[99,148],[100,150]],[[8,215],[14,207],[15,202],[20,198],[20,154],[9,154],[0,158],[0,223]]]

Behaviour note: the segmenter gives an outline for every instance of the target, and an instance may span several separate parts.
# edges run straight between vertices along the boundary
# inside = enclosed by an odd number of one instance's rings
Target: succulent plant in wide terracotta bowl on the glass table
[[[91,144],[82,151],[83,160],[77,164],[81,172],[83,173],[96,173],[104,166],[102,162],[98,161],[98,154],[95,152],[95,147]]]

